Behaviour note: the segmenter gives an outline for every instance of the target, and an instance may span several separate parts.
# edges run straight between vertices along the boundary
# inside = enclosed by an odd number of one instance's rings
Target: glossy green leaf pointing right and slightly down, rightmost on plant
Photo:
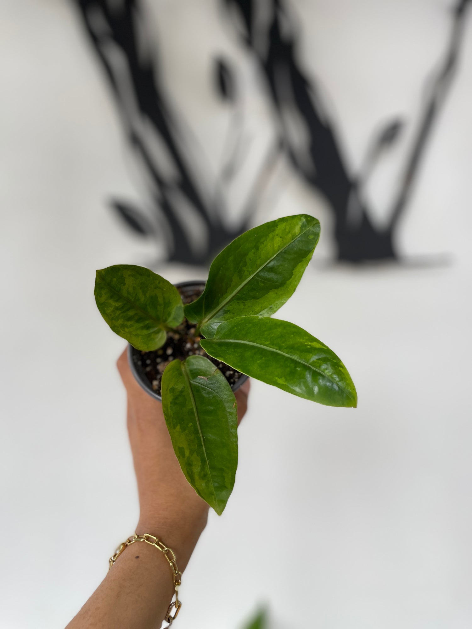
[[[324,343],[298,325],[247,316],[218,326],[201,347],[248,376],[327,406],[357,406],[346,367]]]

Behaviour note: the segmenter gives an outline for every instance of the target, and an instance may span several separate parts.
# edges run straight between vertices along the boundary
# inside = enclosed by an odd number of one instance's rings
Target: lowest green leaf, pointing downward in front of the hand
[[[186,479],[218,515],[238,465],[236,398],[210,360],[172,360],[162,375],[162,409]]]

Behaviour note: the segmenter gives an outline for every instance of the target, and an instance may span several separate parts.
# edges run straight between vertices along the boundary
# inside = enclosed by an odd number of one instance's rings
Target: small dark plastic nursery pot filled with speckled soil
[[[179,282],[175,286],[181,294],[183,303],[188,304],[201,295],[205,288],[205,282]],[[142,352],[132,345],[128,345],[128,362],[133,376],[136,378],[139,386],[152,398],[162,401],[160,396],[160,379],[167,364],[171,360],[184,360],[187,356],[195,353],[211,360],[225,376],[233,391],[237,391],[243,382],[247,380],[248,376],[245,374],[220,360],[208,356],[205,350],[199,346],[198,340],[193,338],[194,328],[194,324],[188,323],[185,319],[183,324],[177,328],[178,331],[167,333],[166,343],[154,352]]]

